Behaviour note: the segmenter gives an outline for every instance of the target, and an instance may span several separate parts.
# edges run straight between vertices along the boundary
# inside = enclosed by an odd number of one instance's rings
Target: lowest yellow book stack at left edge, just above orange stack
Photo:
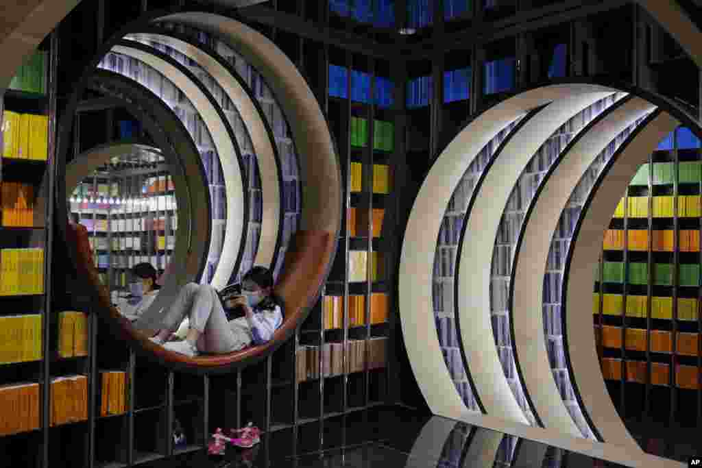
[[[41,315],[0,316],[0,364],[41,359]]]

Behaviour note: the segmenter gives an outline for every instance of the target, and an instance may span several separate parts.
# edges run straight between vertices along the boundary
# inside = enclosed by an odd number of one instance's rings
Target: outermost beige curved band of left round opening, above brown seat
[[[300,155],[303,208],[300,229],[338,232],[341,180],[338,159],[319,102],[291,60],[263,34],[212,13],[176,13],[154,19],[191,25],[217,34],[246,58],[273,91],[287,116]]]

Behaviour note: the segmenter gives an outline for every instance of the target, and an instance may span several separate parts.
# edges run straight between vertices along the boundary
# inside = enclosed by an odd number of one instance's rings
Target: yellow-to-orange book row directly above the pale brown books
[[[348,326],[356,327],[366,324],[366,296],[349,295]],[[388,321],[388,295],[371,293],[371,325]],[[324,296],[322,299],[324,329],[333,330],[344,327],[344,297]]]

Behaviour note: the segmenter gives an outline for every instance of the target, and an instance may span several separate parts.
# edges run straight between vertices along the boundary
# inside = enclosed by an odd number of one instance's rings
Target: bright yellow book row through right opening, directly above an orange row
[[[677,198],[677,210],[675,209],[675,199]],[[651,215],[653,218],[699,218],[702,215],[702,204],[699,195],[662,195],[651,197]],[[648,218],[649,197],[629,196],[622,198],[614,211],[613,218],[624,218],[626,204],[626,215],[628,218]]]

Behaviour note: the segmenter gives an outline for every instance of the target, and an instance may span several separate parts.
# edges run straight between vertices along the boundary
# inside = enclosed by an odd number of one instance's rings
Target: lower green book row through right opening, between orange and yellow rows
[[[598,272],[599,273],[599,272]],[[680,265],[680,286],[700,285],[700,266],[696,264]],[[599,278],[599,276],[598,276]],[[602,279],[604,283],[624,283],[623,262],[603,262]],[[648,264],[643,262],[629,263],[629,284],[645,285],[649,281]],[[673,265],[670,263],[654,263],[654,284],[660,286],[673,285]]]

